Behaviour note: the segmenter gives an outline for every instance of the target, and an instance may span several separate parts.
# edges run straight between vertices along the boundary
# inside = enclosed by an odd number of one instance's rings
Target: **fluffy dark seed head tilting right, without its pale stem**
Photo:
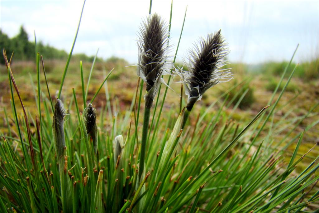
[[[189,96],[187,109],[191,110],[197,100],[210,87],[231,80],[230,69],[220,69],[228,64],[226,56],[229,53],[220,30],[201,38],[195,49],[189,53],[189,72],[182,71],[185,92]]]

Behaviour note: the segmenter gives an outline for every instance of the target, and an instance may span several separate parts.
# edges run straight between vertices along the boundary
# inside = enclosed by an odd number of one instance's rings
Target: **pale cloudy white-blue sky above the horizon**
[[[70,52],[83,1],[0,1],[0,28],[9,37],[24,26],[29,40]],[[257,64],[319,56],[319,1],[173,1],[171,25],[174,55],[182,29],[177,60],[182,61],[200,38],[221,29],[231,62]],[[153,1],[167,22],[171,1]],[[74,53],[104,59],[116,56],[137,62],[137,32],[149,12],[149,1],[86,1]]]

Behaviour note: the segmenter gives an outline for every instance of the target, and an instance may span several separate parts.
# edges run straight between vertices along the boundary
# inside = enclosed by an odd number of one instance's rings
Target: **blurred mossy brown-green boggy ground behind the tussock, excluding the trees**
[[[113,112],[125,112],[129,109],[132,99],[136,93],[137,86],[137,75],[136,75],[136,67],[126,67],[128,65],[122,59],[114,59],[108,60],[107,62],[97,62],[94,65],[93,74],[91,77],[91,82],[88,91],[88,100],[90,100],[97,89],[100,87],[103,82],[106,74],[112,69],[115,68],[110,78],[107,81],[109,100],[111,103],[111,110]],[[45,61],[45,69],[47,73],[48,86],[51,93],[51,98],[54,101],[56,98],[56,92],[59,89],[61,77],[63,74],[65,62],[58,60],[47,60]],[[214,115],[222,106],[224,99],[218,99],[219,95],[223,92],[227,91],[229,88],[233,87],[235,84],[239,84],[238,87],[229,92],[228,101],[225,102],[223,107],[223,113],[229,115],[232,113],[231,118],[232,121],[236,123],[248,123],[264,106],[266,106],[271,99],[274,89],[280,80],[280,76],[277,76],[271,72],[254,72],[254,70],[248,71],[247,66],[241,64],[233,64],[230,65],[233,67],[232,72],[234,72],[234,79],[227,83],[222,83],[216,85],[205,93],[202,100],[196,104],[195,113],[191,114],[190,122],[195,122],[198,113],[200,113],[201,109],[204,106],[209,106],[211,103],[216,102],[216,104],[211,108],[208,115],[205,117],[209,119],[210,116]],[[29,116],[35,117],[37,112],[36,107],[36,66],[34,62],[12,62],[11,65],[12,72],[14,74],[16,83],[19,87],[19,91],[22,97],[22,101],[30,113]],[[89,72],[91,69],[91,63],[84,62],[83,70],[84,70],[84,79],[85,84],[87,82]],[[288,72],[290,73],[292,69]],[[318,71],[319,72],[319,71]],[[167,80],[167,76],[165,77]],[[178,77],[174,77],[171,80],[170,86],[175,91],[173,92],[171,89],[168,89],[167,98],[164,104],[162,119],[169,120],[170,118],[176,118],[179,112],[180,105],[180,97],[177,94],[180,94],[181,84],[175,83],[180,79]],[[244,81],[243,81],[244,80]],[[45,79],[43,75],[43,71],[41,68],[41,90],[43,95],[47,96],[47,89],[45,84]],[[174,82],[175,81],[175,82]],[[243,82],[242,82],[243,81]],[[280,85],[277,94],[275,95],[274,100],[271,104],[274,104],[277,99],[282,87],[285,85],[287,78],[284,79],[283,83]],[[105,85],[106,86],[106,85]],[[13,118],[12,118],[12,110],[11,110],[11,94],[10,94],[10,84],[8,81],[7,69],[4,65],[0,66],[0,128],[1,135],[7,133],[7,125],[13,126]],[[75,88],[77,93],[78,101],[81,102],[82,94],[81,94],[81,78],[80,78],[80,68],[78,61],[71,61],[69,65],[69,69],[65,78],[64,86],[63,86],[63,102],[68,109],[68,105],[72,100],[72,88]],[[98,110],[98,114],[100,114],[101,109],[105,108],[107,105],[108,95],[105,91],[106,87],[103,87],[98,94],[98,96],[94,100],[94,106]],[[161,104],[161,99],[164,93],[165,87],[162,85],[159,104]],[[246,92],[247,90],[247,92]],[[145,91],[145,90],[144,90]],[[295,135],[302,132],[308,125],[315,123],[311,129],[306,131],[303,136],[302,146],[300,146],[299,154],[302,155],[307,152],[311,147],[314,146],[315,143],[319,141],[319,106],[315,105],[319,100],[319,80],[318,79],[302,79],[300,77],[293,77],[290,84],[286,88],[285,93],[283,94],[280,102],[278,103],[277,111],[274,114],[273,124],[279,125],[277,126],[279,134],[274,138],[274,144],[276,141],[280,141],[284,135],[286,135],[290,130],[293,129],[294,125],[298,124],[300,118],[305,116],[310,109],[313,108],[312,112],[302,120],[293,130],[293,132],[289,135],[286,141],[292,139]],[[246,92],[246,95],[242,98],[241,104],[233,111],[235,104],[230,104],[229,100],[234,99],[234,103],[241,97],[241,95]],[[237,93],[240,93],[235,97]],[[18,96],[15,91],[15,100],[16,106],[18,110],[18,114],[22,118],[22,109],[20,107]],[[183,95],[183,102],[187,97]],[[143,101],[141,104],[141,109],[143,109]],[[154,102],[155,104],[155,102]],[[184,104],[185,105],[185,104]],[[83,108],[82,103],[79,103],[80,108]],[[43,109],[43,108],[42,108]],[[173,109],[173,110],[172,110]],[[278,110],[279,109],[279,110]],[[80,109],[81,110],[81,109]],[[8,123],[6,122],[5,112],[8,116]],[[164,116],[165,115],[165,116]],[[167,116],[169,115],[169,116]],[[141,113],[142,116],[142,113]],[[108,116],[104,116],[105,128],[111,128],[111,121]],[[99,118],[98,118],[99,119]],[[270,119],[270,120],[271,120]],[[143,119],[139,119],[142,126]],[[100,122],[100,121],[98,121]],[[270,123],[270,122],[269,122]],[[14,127],[12,127],[14,129]],[[263,135],[267,135],[266,131],[263,131]],[[298,140],[298,139],[297,139]],[[295,140],[292,145],[287,147],[287,159],[292,154],[293,149],[295,148],[295,144],[297,142]],[[283,144],[284,146],[285,144]],[[314,157],[319,155],[319,146],[310,153],[310,158],[305,160],[304,163],[310,162]],[[298,169],[297,169],[298,171]]]

